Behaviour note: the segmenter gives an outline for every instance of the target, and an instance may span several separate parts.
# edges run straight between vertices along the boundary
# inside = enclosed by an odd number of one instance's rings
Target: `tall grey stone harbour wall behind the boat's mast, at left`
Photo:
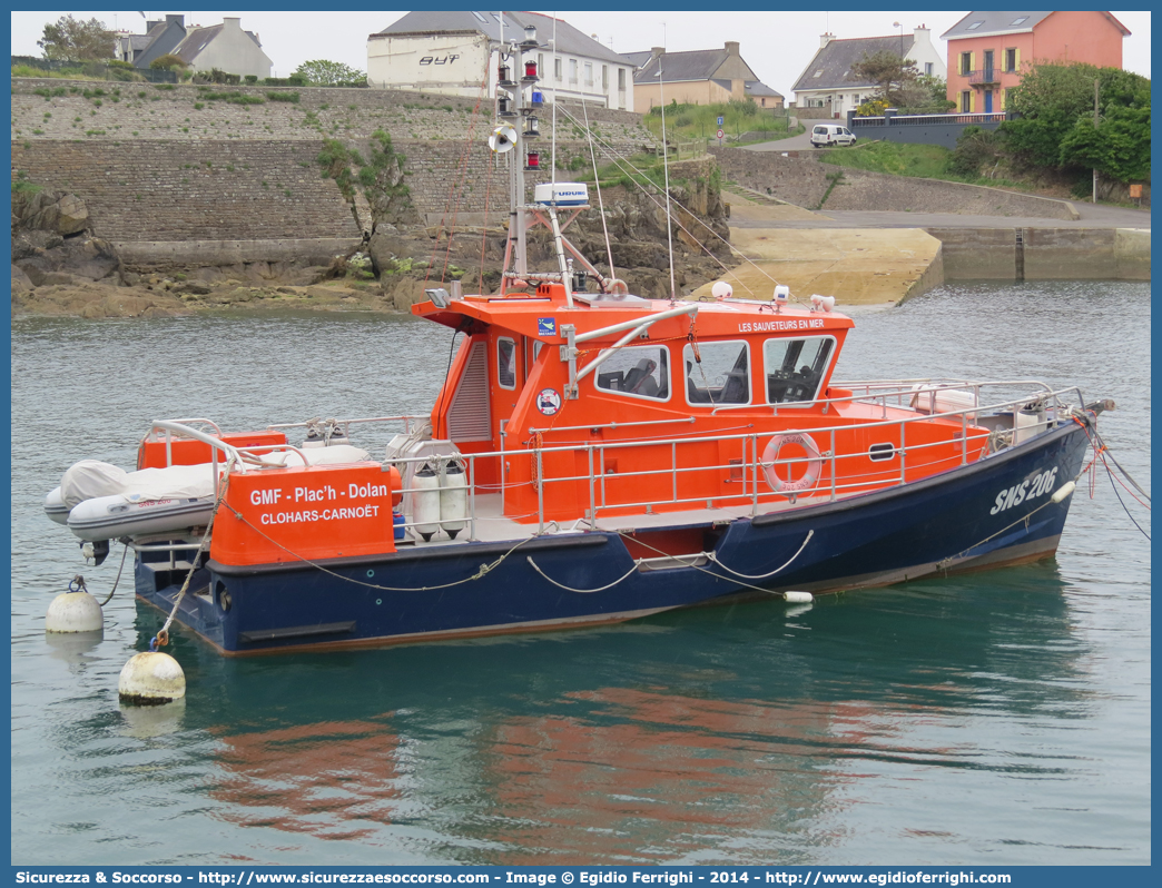
[[[579,109],[559,110],[559,166],[589,169],[588,144],[565,116]],[[530,143],[545,167],[528,176],[530,187],[551,176],[552,116],[551,107],[540,114],[541,138]],[[639,115],[589,108],[589,119],[621,153],[652,143]],[[324,139],[366,159],[372,135],[386,131],[406,158],[403,182],[419,222],[480,224],[487,209],[489,222],[502,223],[508,167],[518,158],[488,150],[493,124],[490,100],[431,93],[17,78],[12,176],[76,193],[93,230],[117,243],[358,239],[371,229],[366,201],[357,198],[357,221],[323,177]]]

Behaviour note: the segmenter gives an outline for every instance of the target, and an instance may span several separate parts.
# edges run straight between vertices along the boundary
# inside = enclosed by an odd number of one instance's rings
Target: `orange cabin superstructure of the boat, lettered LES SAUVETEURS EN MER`
[[[475,460],[476,490],[503,488],[515,521],[741,506],[760,488],[792,502],[846,495],[973,461],[984,446],[985,432],[961,420],[905,431],[910,406],[881,409],[829,388],[852,327],[844,315],[744,300],[568,302],[546,282],[413,309],[466,332],[432,434],[492,454]],[[648,327],[625,342],[639,321]],[[835,429],[844,424],[851,431]],[[906,466],[894,458],[905,446]],[[755,468],[775,461],[784,465]]]

